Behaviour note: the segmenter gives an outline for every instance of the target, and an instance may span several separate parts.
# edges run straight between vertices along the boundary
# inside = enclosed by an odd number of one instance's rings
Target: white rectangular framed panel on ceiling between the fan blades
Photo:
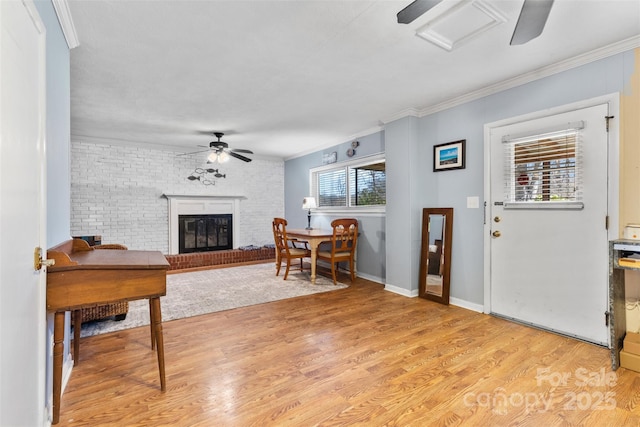
[[[432,11],[436,12],[437,8]],[[504,22],[507,18],[495,6],[483,0],[461,0],[431,16],[416,35],[450,52]]]

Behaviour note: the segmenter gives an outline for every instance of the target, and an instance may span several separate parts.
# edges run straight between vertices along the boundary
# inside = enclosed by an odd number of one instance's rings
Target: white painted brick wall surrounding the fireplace
[[[284,215],[284,162],[231,159],[206,165],[206,153],[84,142],[71,143],[71,234],[101,235],[102,243],[169,252],[168,201],[163,194],[244,196],[238,245],[273,243],[271,221]],[[226,178],[215,185],[189,181],[196,167]]]

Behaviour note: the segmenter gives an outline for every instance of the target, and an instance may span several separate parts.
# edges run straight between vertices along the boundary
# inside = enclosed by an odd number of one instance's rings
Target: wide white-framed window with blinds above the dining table
[[[380,155],[339,166],[322,166],[310,172],[319,209],[386,205],[385,161]]]

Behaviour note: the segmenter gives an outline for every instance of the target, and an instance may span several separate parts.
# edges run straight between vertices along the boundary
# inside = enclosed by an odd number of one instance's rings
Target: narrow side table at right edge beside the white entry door
[[[609,242],[609,333],[611,336],[611,369],[620,366],[620,350],[627,333],[625,270],[640,270],[640,262],[622,261],[629,254],[640,254],[640,240],[612,240]]]

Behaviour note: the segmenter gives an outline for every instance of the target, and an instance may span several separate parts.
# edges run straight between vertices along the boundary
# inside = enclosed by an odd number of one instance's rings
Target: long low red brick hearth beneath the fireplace
[[[214,252],[196,252],[190,254],[165,255],[169,261],[169,270],[202,268],[214,265],[242,264],[256,261],[274,261],[274,248],[229,249]]]

